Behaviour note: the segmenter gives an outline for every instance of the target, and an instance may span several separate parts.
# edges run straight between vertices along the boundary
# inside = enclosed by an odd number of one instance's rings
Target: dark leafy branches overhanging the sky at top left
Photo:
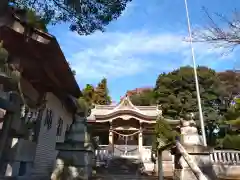
[[[117,19],[131,0],[1,0],[0,18],[8,7],[30,9],[51,24],[70,23],[70,30],[80,35],[103,31],[112,20]]]

